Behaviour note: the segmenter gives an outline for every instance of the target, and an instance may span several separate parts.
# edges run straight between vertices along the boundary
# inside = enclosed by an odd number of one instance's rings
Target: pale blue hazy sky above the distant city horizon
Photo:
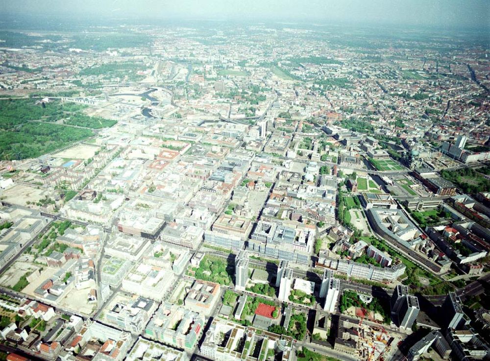
[[[35,16],[490,27],[490,0],[0,0],[0,12]]]

